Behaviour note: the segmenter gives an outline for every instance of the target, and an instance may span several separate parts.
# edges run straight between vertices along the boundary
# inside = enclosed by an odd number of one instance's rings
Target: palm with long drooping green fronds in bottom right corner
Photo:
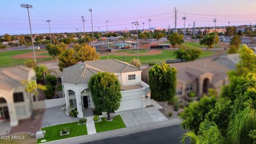
[[[256,102],[249,99],[244,102],[244,105],[243,110],[233,111],[237,114],[233,114],[235,116],[229,122],[227,138],[231,143],[253,143],[253,139],[249,137],[249,131],[256,129]]]

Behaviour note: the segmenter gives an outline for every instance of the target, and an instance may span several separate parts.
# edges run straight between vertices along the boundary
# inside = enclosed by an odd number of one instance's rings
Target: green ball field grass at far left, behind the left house
[[[45,50],[35,50],[35,51],[45,51]],[[4,51],[0,52],[0,67],[11,67],[16,65],[23,65],[26,59],[14,59],[12,58],[14,55],[30,53],[33,50],[17,50],[17,51]],[[52,58],[42,58],[37,59],[37,62],[52,60]]]

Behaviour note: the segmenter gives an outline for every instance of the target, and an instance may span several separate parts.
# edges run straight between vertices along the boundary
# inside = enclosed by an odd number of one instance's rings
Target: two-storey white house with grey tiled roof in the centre
[[[122,101],[117,111],[151,105],[149,85],[141,81],[141,69],[115,59],[84,61],[64,68],[61,75],[66,108],[77,108],[77,117],[83,117],[83,109],[94,108],[87,84],[93,74],[101,71],[113,73],[119,79]]]

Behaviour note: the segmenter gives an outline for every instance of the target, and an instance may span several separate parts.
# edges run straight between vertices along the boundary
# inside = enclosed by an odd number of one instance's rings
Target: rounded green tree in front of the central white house
[[[110,112],[120,107],[122,99],[119,80],[114,74],[100,72],[91,76],[88,86],[95,108],[107,112],[110,120]]]

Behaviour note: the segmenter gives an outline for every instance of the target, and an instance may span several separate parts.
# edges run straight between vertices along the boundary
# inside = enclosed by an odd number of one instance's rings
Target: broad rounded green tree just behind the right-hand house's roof
[[[202,50],[190,45],[180,45],[179,49],[174,51],[173,55],[176,59],[184,61],[193,61],[202,54]]]

